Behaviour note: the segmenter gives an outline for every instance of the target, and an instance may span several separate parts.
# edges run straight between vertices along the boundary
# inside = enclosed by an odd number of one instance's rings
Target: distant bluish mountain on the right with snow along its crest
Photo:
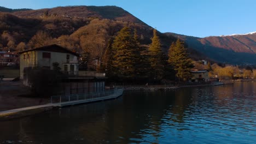
[[[256,64],[256,32],[247,34],[221,35],[197,38],[187,35],[166,33],[187,43],[208,58],[229,64]]]

